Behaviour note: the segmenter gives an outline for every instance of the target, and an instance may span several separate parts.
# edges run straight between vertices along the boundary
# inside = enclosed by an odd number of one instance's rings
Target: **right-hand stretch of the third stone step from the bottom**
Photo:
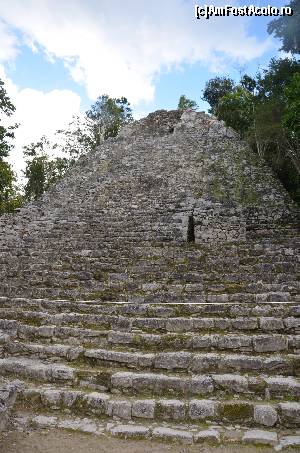
[[[169,397],[212,397],[244,395],[258,399],[299,399],[299,381],[284,376],[232,374],[142,373],[119,371],[111,376],[111,391],[125,395],[168,395]]]

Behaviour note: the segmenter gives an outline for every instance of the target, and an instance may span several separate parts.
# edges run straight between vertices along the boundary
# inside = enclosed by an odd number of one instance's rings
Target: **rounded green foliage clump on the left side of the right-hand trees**
[[[223,96],[216,108],[216,115],[244,137],[253,122],[253,96],[241,86]]]

